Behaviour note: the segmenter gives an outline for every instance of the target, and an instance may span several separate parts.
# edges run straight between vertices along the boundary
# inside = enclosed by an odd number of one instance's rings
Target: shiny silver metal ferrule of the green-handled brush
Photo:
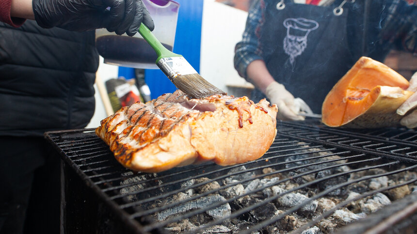
[[[158,63],[160,70],[173,81],[178,75],[195,74],[194,68],[184,57],[161,58]]]

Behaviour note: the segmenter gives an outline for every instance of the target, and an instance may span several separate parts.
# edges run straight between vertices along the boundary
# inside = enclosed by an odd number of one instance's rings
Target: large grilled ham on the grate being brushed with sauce
[[[260,158],[276,135],[276,105],[265,99],[183,93],[123,107],[96,134],[125,167],[160,172],[201,161],[233,165]]]

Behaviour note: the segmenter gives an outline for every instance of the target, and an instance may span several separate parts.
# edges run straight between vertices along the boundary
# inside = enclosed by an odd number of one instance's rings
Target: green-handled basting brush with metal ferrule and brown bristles
[[[165,48],[152,32],[142,23],[139,33],[158,55],[156,64],[171,82],[192,98],[204,98],[215,94],[225,94],[199,75],[182,56]]]

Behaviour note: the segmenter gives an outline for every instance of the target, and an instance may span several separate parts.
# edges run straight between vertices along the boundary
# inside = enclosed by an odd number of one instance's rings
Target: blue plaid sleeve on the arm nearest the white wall
[[[242,35],[242,40],[235,46],[234,64],[239,75],[247,79],[246,68],[257,59],[262,58],[262,50],[259,44],[259,29],[262,25],[262,15],[264,9],[263,0],[255,0],[250,9],[246,20],[246,28]]]

